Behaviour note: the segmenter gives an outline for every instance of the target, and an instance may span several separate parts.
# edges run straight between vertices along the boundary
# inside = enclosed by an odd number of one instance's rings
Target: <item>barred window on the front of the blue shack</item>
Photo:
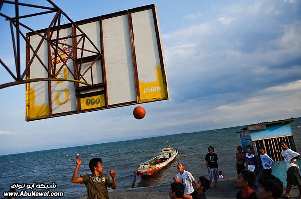
[[[286,141],[288,147],[293,151],[296,151],[293,135],[290,135],[290,136],[281,136],[281,137],[273,137],[268,139],[254,140],[253,146],[254,146],[255,155],[259,157],[258,147],[264,146],[266,149],[266,154],[268,154],[268,156],[271,157],[274,161],[283,161],[284,158],[281,155],[275,154],[276,149],[278,151],[282,151],[282,148],[279,144],[281,141]]]

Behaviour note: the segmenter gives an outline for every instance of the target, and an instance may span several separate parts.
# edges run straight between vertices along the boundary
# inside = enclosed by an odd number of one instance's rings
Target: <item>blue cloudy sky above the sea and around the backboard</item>
[[[171,99],[25,121],[25,85],[0,90],[0,155],[301,116],[299,0],[54,0],[73,21],[156,4]],[[3,13],[13,15],[4,6]],[[66,20],[66,19],[65,19]],[[67,21],[67,20],[66,20]],[[30,21],[34,29],[48,22]],[[0,58],[14,67],[8,22]],[[24,47],[23,47],[24,49]],[[25,63],[25,50],[21,51]],[[0,66],[0,84],[12,81]]]

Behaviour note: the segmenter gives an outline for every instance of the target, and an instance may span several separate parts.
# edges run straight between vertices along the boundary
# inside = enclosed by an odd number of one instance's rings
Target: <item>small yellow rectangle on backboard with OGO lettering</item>
[[[80,106],[82,110],[103,107],[105,106],[104,94],[81,98]]]

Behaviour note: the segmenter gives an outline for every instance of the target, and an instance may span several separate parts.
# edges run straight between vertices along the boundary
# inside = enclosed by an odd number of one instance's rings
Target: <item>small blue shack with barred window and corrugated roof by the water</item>
[[[294,120],[295,118],[289,118],[286,120],[252,124],[237,132],[240,133],[243,151],[246,151],[246,145],[252,147],[252,152],[256,156],[258,167],[261,166],[258,147],[265,147],[266,154],[275,161],[272,166],[272,174],[283,182],[284,187],[286,187],[286,165],[284,158],[281,155],[276,154],[275,150],[282,151],[279,143],[281,141],[286,141],[288,143],[288,148],[297,151],[290,126],[290,123]],[[300,167],[299,159],[296,160],[296,165]]]

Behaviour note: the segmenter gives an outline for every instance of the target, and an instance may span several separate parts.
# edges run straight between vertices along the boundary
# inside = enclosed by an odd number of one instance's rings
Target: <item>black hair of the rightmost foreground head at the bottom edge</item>
[[[266,175],[261,177],[258,182],[266,191],[270,191],[272,193],[273,198],[277,199],[282,195],[283,183],[279,180],[279,178],[273,175]]]

